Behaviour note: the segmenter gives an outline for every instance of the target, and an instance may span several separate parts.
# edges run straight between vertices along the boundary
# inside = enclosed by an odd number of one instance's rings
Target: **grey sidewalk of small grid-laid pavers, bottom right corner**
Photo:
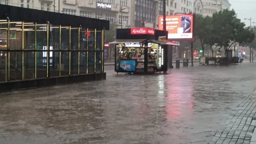
[[[251,143],[256,144],[256,98],[250,94],[229,116],[226,127],[216,131],[212,143]]]

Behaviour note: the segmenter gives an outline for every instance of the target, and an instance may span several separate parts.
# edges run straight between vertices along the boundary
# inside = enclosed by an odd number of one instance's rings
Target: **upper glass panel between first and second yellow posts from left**
[[[10,23],[10,49],[22,50],[22,22]]]

